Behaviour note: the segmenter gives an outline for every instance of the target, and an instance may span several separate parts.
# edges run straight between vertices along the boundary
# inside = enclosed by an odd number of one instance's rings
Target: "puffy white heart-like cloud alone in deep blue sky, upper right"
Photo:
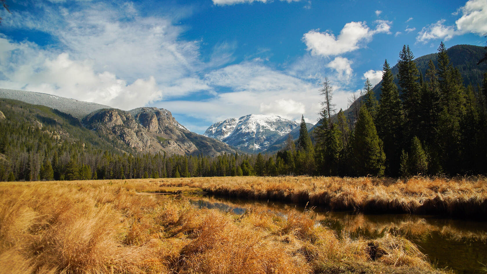
[[[390,21],[376,20],[375,23],[375,30],[371,30],[365,22],[346,23],[338,37],[329,32],[310,30],[303,35],[302,40],[313,55],[336,56],[358,49],[377,33],[390,33]]]

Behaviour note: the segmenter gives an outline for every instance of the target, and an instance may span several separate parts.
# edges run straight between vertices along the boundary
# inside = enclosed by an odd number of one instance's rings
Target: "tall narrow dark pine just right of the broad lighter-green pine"
[[[384,61],[382,70],[382,86],[376,119],[377,134],[384,142],[387,173],[396,176],[399,172],[400,151],[403,146],[404,113],[387,60]]]

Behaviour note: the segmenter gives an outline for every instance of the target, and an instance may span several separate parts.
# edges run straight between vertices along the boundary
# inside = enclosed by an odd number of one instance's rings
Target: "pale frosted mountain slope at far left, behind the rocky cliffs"
[[[96,110],[110,108],[106,105],[78,101],[76,99],[64,98],[51,94],[12,89],[0,89],[0,98],[14,99],[29,104],[47,106],[71,114],[80,119]]]

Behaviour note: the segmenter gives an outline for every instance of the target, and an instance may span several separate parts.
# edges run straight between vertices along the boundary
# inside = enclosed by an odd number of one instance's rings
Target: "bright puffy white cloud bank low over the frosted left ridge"
[[[1,44],[4,44],[2,40]],[[128,84],[110,72],[96,73],[92,61],[75,61],[67,53],[51,58],[42,51],[36,55],[25,45],[10,45],[16,47],[17,54],[21,54],[25,61],[12,66],[13,70],[0,69],[8,78],[0,80],[0,86],[4,88],[44,92],[125,110],[162,98],[162,92],[152,76]],[[1,59],[5,57],[4,52]]]

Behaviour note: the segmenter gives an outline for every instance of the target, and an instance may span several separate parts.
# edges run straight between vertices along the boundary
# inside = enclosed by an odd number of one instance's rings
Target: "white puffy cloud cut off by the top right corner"
[[[438,20],[423,27],[416,41],[426,43],[431,39],[449,40],[466,33],[483,35],[487,32],[487,0],[469,0],[459,11],[462,17],[455,21],[455,25],[445,25],[446,20]]]

